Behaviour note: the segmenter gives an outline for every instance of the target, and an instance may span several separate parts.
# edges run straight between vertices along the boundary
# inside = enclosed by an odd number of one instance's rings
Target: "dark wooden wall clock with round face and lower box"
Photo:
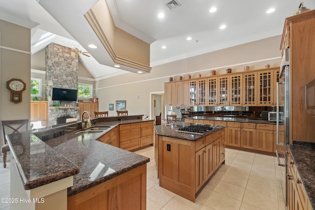
[[[6,82],[6,88],[10,90],[10,101],[12,103],[22,102],[22,92],[26,89],[26,84],[20,79],[10,79]]]

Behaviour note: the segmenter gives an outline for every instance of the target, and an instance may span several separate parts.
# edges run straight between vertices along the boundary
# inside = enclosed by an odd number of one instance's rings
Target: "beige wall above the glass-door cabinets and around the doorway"
[[[126,109],[129,115],[143,114],[150,116],[150,92],[164,91],[164,83],[169,77],[178,80],[178,76],[187,79],[210,76],[211,70],[216,70],[217,75],[225,74],[226,68],[232,72],[244,71],[244,66],[250,70],[265,68],[268,63],[271,67],[280,66],[281,35],[251,43],[226,48],[212,53],[207,53],[192,58],[178,60],[152,68],[151,73],[127,73],[117,77],[96,81],[96,95],[99,101],[99,110],[107,111],[108,104],[115,104],[116,100],[126,100]],[[140,100],[137,95],[140,94]],[[166,111],[166,110],[165,110]],[[109,115],[116,115],[109,111]]]

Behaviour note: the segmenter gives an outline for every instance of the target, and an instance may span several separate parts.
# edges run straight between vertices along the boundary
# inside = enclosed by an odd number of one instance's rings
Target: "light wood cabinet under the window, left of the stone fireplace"
[[[48,125],[48,101],[31,101],[31,122],[41,121],[42,126]]]

